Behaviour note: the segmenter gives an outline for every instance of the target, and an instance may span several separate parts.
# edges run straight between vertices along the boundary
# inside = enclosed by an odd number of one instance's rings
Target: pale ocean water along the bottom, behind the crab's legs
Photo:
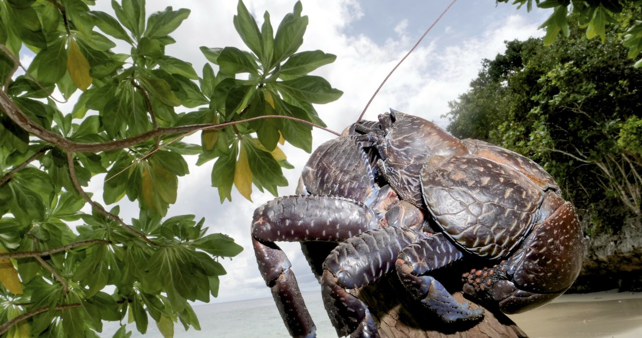
[[[325,313],[320,293],[304,293],[308,310],[317,325],[317,337],[336,338],[336,331]],[[272,298],[256,300],[230,301],[194,305],[201,330],[189,328],[185,331],[183,325],[175,323],[174,337],[176,338],[281,338],[290,337],[279,310]],[[105,323],[100,337],[110,338],[120,328],[119,323]],[[150,318],[146,334],[136,330],[134,323],[127,325],[132,331],[132,338],[162,338],[158,328]]]

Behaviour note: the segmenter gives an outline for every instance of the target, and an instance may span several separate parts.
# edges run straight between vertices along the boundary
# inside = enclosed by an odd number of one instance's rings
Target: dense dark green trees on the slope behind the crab
[[[548,47],[535,38],[507,42],[450,103],[448,130],[534,158],[577,207],[602,210],[593,213],[600,231],[613,215],[641,214],[642,71],[631,67],[616,28],[605,42],[582,35],[571,24]]]

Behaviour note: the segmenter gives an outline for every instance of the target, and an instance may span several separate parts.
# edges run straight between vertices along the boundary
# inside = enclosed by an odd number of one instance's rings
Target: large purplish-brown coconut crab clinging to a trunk
[[[575,210],[544,169],[413,115],[391,110],[322,144],[297,194],[257,208],[251,227],[259,270],[293,337],[314,337],[315,326],[275,241],[301,242],[337,333],[352,337],[379,335],[347,289],[388,273],[442,320],[458,321],[483,310],[456,301],[432,271],[481,264],[462,276],[464,293],[509,314],[557,298],[580,271]]]

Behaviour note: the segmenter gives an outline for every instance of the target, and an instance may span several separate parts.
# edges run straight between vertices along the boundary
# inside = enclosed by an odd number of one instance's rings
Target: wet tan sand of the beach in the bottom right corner
[[[565,294],[552,303],[509,316],[531,338],[642,337],[642,293]]]

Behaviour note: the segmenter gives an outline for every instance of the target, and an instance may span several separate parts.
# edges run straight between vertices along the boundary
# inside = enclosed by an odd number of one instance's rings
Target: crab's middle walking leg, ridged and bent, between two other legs
[[[389,226],[351,237],[330,253],[324,262],[321,292],[338,335],[379,337],[366,305],[345,289],[362,287],[392,271],[399,251],[423,236]]]

